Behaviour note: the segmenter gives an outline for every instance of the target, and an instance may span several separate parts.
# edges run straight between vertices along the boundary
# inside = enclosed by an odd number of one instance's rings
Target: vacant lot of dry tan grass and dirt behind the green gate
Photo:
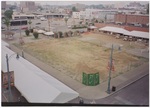
[[[111,43],[121,44],[124,48],[128,48],[129,45],[129,42],[102,34],[83,34],[82,37],[40,39],[40,41],[26,43],[23,49],[80,82],[82,72],[99,72],[100,82],[102,82],[107,80],[107,66],[110,58],[110,48],[104,46],[107,44],[111,46]],[[127,54],[124,50],[118,51],[117,47],[113,52],[113,60],[115,71],[112,76],[125,72],[124,67],[129,68],[132,64],[143,61],[143,59]]]

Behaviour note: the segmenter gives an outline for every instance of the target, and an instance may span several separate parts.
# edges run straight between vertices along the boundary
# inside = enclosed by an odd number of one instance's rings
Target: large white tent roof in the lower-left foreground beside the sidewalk
[[[9,71],[14,72],[14,85],[29,103],[67,103],[79,96],[56,78],[47,74],[26,59],[16,56],[2,41],[2,72],[7,72],[6,54],[9,59]]]

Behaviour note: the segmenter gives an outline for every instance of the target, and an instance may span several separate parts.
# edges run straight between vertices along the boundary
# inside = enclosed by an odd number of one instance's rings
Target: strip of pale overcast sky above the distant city
[[[21,0],[22,1],[22,0]],[[27,0],[28,1],[28,0]],[[20,1],[7,1],[8,4],[14,4],[14,3],[19,4]],[[129,4],[130,2],[134,1],[62,1],[62,0],[57,0],[57,1],[34,1],[36,3],[40,3],[41,5],[72,5],[76,3],[80,4],[85,4],[85,5],[96,5],[96,4],[103,4],[103,5],[111,5],[114,4],[116,6],[125,6]],[[140,2],[141,4],[147,4],[149,3],[148,1],[135,1],[135,2]]]

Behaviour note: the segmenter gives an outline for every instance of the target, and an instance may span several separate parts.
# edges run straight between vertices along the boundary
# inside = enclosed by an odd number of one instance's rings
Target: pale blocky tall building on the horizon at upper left
[[[35,2],[32,1],[21,1],[20,7],[22,12],[30,12],[36,10]]]

